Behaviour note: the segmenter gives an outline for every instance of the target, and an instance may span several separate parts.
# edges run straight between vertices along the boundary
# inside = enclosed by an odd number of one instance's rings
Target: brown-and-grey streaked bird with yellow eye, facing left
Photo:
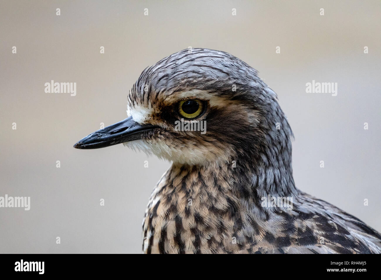
[[[239,58],[171,54],[142,72],[127,107],[74,147],[123,143],[171,162],[144,214],[143,253],[381,253],[379,232],[296,188],[277,94]]]

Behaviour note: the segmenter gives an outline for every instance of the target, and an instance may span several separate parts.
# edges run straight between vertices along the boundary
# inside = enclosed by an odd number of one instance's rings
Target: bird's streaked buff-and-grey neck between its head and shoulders
[[[175,197],[187,198],[188,203],[211,204],[219,211],[222,210],[219,207],[226,205],[232,206],[231,211],[257,208],[255,212],[269,214],[283,208],[271,201],[291,199],[292,202],[298,192],[290,168],[291,165],[283,163],[274,166],[263,161],[243,160],[193,166],[173,164],[166,177],[167,182],[171,182],[170,196],[176,193]]]

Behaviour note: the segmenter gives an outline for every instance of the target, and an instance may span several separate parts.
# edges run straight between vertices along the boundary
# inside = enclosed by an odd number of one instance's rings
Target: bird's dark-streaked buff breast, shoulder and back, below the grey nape
[[[227,174],[234,175],[223,167],[171,167],[147,206],[144,253],[381,252],[375,230],[307,194],[298,194],[293,210],[243,205]]]

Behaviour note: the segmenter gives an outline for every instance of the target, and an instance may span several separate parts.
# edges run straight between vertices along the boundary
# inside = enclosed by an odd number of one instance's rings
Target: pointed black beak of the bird
[[[145,131],[154,130],[158,126],[146,124],[140,125],[132,117],[121,122],[114,123],[105,128],[97,130],[82,138],[73,147],[76,149],[98,149],[123,142],[142,139]]]

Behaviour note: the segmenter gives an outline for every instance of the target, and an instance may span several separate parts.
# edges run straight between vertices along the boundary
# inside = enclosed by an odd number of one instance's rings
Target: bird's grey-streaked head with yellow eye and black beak
[[[263,162],[282,151],[291,153],[292,132],[276,99],[258,72],[240,59],[186,49],[142,72],[128,94],[128,118],[74,147],[123,143],[182,165]]]

